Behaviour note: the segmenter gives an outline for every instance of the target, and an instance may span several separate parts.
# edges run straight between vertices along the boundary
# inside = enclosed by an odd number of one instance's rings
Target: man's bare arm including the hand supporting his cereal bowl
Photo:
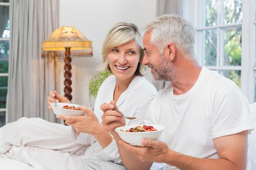
[[[146,147],[122,145],[142,161],[163,162],[180,170],[246,170],[248,130],[213,139],[219,159],[200,159],[177,153],[161,141],[143,140]]]

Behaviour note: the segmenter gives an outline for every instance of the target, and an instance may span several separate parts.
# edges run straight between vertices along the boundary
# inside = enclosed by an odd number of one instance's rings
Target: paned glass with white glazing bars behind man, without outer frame
[[[242,0],[203,0],[201,65],[216,70],[241,87]]]

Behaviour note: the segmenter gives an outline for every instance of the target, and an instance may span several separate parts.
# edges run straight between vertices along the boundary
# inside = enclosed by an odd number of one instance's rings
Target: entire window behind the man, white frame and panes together
[[[183,1],[183,17],[195,27],[199,64],[235,82],[250,103],[256,101],[256,0]]]

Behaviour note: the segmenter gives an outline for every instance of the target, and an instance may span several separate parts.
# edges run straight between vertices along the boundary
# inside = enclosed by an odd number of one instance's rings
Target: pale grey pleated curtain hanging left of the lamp
[[[20,117],[57,122],[47,108],[58,90],[56,60],[41,58],[41,42],[58,28],[59,0],[10,0],[10,55],[6,123]]]

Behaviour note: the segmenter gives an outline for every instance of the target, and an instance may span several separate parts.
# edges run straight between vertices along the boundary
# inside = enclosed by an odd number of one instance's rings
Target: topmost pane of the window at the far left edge
[[[0,38],[10,38],[9,6],[0,6]]]

